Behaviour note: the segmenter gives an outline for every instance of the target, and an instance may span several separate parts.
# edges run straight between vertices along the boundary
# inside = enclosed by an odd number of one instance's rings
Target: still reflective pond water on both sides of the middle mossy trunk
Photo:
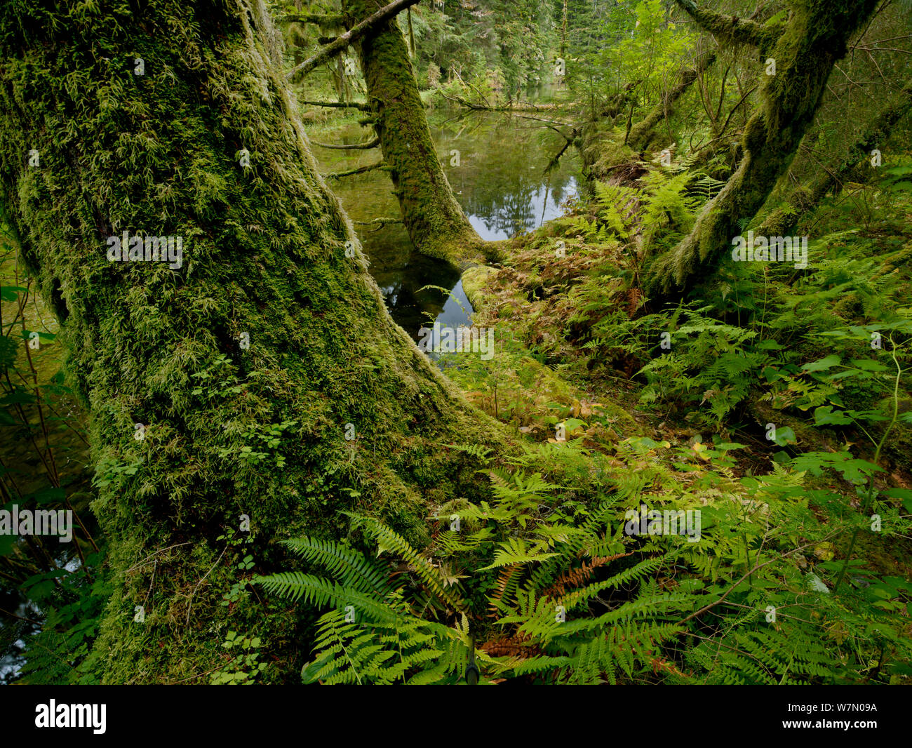
[[[534,115],[537,116],[537,115]],[[547,114],[543,114],[548,119]],[[561,215],[561,203],[574,197],[579,183],[579,162],[569,148],[558,165],[545,174],[545,167],[561,150],[564,140],[544,122],[497,112],[440,110],[428,115],[437,146],[456,199],[482,239],[507,239],[531,231]],[[334,144],[369,140],[369,130],[347,125],[321,131],[313,140]],[[321,171],[344,171],[378,161],[379,149],[328,151],[313,147]],[[459,165],[455,154],[459,151]],[[331,180],[353,221],[378,217],[398,218],[399,203],[385,171],[370,171],[354,177]],[[382,229],[358,226],[358,235],[370,260],[370,272],[387,301],[390,314],[413,338],[422,325],[434,320],[456,327],[468,323],[472,313],[462,292],[460,274],[448,263],[415,252],[400,223]],[[441,291],[451,289],[460,304]]]

